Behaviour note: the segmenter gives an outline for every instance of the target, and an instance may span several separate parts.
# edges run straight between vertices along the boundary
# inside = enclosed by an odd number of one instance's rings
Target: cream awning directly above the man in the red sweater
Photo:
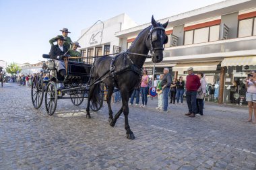
[[[220,61],[215,62],[189,62],[189,63],[178,63],[172,67],[172,71],[187,71],[189,67],[193,67],[194,71],[216,71],[217,65]]]

